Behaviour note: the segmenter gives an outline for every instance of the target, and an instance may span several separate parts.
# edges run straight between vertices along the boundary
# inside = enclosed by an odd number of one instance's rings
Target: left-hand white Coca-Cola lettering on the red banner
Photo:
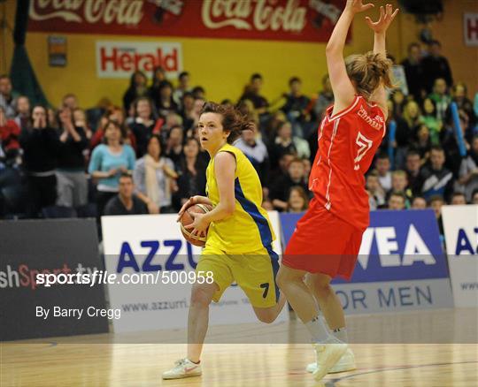
[[[136,26],[143,19],[143,0],[33,0],[30,18]]]

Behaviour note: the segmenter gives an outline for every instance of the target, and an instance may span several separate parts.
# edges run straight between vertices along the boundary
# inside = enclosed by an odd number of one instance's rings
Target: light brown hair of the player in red
[[[390,75],[391,65],[391,60],[383,54],[374,54],[372,51],[345,58],[347,75],[354,82],[358,95],[363,95],[366,99],[381,84],[385,87],[393,87]]]

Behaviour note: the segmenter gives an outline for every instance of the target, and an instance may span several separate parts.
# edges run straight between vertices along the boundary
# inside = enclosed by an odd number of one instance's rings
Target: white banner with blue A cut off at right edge
[[[478,206],[443,206],[455,307],[478,307]]]

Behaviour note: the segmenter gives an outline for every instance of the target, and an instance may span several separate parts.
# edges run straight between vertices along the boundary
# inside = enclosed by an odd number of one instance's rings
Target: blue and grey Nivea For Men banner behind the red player
[[[284,247],[301,216],[281,214]],[[452,307],[433,211],[372,211],[351,282],[333,284],[347,313]]]

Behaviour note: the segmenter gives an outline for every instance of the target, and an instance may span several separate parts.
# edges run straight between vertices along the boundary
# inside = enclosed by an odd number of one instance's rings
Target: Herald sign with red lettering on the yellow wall
[[[137,70],[152,72],[162,66],[168,77],[182,70],[180,43],[96,42],[96,72],[99,78],[129,78]]]

